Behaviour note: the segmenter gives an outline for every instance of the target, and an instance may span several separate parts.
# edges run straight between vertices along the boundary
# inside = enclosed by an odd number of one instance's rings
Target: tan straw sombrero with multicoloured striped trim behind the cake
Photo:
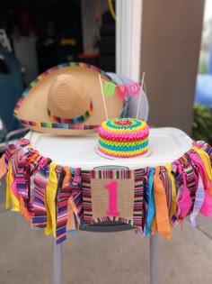
[[[24,91],[14,115],[24,126],[38,132],[97,132],[106,120],[99,75],[115,84],[104,71],[85,63],[66,63],[49,69]],[[119,96],[104,99],[108,119],[123,114],[125,104]]]

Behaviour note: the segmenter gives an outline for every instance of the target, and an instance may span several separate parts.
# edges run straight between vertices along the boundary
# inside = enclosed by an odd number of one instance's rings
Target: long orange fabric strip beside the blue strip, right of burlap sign
[[[160,168],[155,167],[153,184],[154,184],[157,230],[160,235],[163,235],[170,240],[172,237],[171,224],[169,221],[169,213],[168,213],[165,189],[163,188],[163,182],[160,179],[159,173],[160,173]]]

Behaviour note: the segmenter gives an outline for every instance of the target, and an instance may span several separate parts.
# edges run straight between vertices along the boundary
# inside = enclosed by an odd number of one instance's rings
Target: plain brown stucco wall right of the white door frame
[[[148,123],[190,134],[204,0],[143,0],[141,74]]]

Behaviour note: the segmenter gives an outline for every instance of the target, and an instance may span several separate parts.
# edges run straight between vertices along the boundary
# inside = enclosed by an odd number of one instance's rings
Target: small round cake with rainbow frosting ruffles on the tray
[[[99,127],[98,150],[114,158],[132,158],[148,151],[149,126],[133,118],[114,118]]]

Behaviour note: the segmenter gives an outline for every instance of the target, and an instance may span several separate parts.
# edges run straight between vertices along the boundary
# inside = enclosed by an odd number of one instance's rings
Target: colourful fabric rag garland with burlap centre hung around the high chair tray
[[[198,214],[212,217],[211,164],[212,147],[193,142],[190,151],[165,166],[76,169],[57,165],[22,139],[6,149],[0,175],[6,173],[5,208],[20,211],[57,243],[80,226],[103,221],[171,239],[172,227],[186,216],[192,226]]]

